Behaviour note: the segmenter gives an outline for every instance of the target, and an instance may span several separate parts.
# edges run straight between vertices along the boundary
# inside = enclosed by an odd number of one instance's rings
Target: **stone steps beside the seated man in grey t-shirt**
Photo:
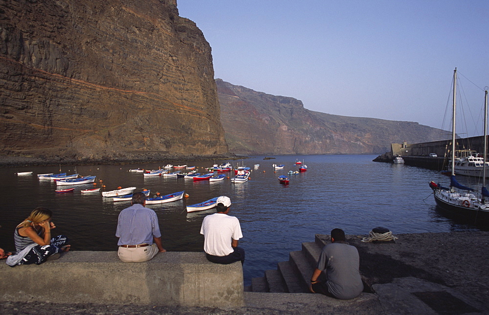
[[[312,272],[316,268],[325,242],[315,235],[314,242],[302,243],[302,250],[290,252],[289,261],[267,270],[263,277],[252,278],[245,292],[308,293]]]

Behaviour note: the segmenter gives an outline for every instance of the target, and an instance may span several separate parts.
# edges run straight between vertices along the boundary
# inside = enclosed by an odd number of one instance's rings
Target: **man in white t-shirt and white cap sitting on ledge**
[[[202,221],[200,234],[204,235],[204,252],[210,262],[244,263],[244,249],[238,247],[238,240],[243,237],[240,221],[227,215],[230,207],[231,199],[221,196],[216,200],[217,213],[206,216]]]

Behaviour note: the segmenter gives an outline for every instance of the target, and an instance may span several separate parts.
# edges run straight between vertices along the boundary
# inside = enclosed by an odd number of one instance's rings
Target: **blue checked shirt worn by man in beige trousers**
[[[161,237],[156,212],[134,204],[119,213],[117,245],[153,244],[153,237]]]

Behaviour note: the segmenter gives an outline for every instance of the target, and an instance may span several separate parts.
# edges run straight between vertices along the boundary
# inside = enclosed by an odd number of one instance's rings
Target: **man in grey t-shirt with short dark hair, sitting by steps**
[[[312,273],[309,290],[342,300],[355,298],[363,291],[359,265],[358,251],[345,241],[345,232],[333,229],[331,244],[323,247],[321,251],[317,268]],[[317,278],[325,269],[327,280],[319,282]]]

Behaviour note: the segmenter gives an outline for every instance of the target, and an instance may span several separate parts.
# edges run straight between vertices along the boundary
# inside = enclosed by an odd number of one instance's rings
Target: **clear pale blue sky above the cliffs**
[[[178,0],[178,11],[210,43],[216,78],[324,113],[448,129],[457,67],[465,131],[482,132],[488,0]]]

